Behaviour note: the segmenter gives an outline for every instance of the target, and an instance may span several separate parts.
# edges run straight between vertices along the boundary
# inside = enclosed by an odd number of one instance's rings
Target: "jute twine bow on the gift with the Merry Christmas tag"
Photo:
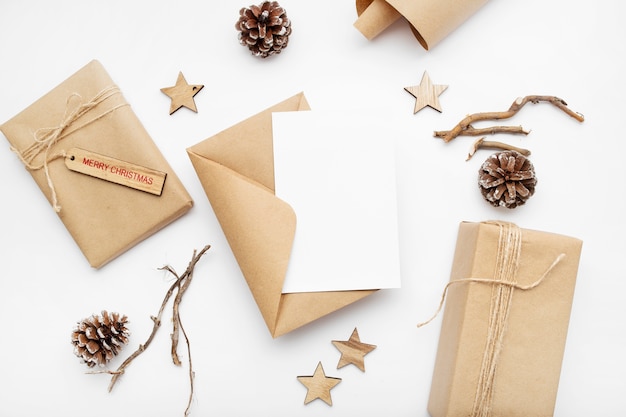
[[[119,109],[120,107],[128,106],[128,103],[117,104],[114,107],[107,109],[103,113],[93,117],[92,119],[89,119],[82,124],[74,126],[74,123],[78,121],[82,116],[89,113],[91,110],[95,109],[98,105],[106,101],[108,98],[114,96],[115,94],[121,94],[120,89],[115,85],[103,89],[88,102],[83,102],[83,98],[80,94],[72,93],[66,100],[63,118],[57,126],[37,129],[33,133],[32,145],[30,145],[23,151],[19,151],[11,146],[11,150],[17,154],[17,156],[20,158],[26,168],[31,171],[38,171],[40,169],[44,170],[46,174],[46,181],[48,182],[48,187],[50,188],[50,193],[52,195],[52,207],[57,213],[61,211],[61,206],[59,206],[54,182],[50,177],[48,164],[55,159],[64,158],[65,151],[61,150],[57,153],[51,153],[51,149],[57,142],[59,142],[61,139],[65,138],[69,134],[82,129],[83,127],[90,125],[97,120],[100,120],[107,114]],[[73,129],[71,129],[71,131],[68,131],[69,127],[72,127]],[[37,158],[39,155],[43,156],[42,162],[36,163],[35,158]]]

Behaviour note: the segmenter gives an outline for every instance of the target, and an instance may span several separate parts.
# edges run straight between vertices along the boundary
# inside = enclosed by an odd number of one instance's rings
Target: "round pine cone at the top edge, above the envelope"
[[[291,34],[287,12],[276,1],[242,8],[235,27],[239,31],[239,43],[261,58],[279,54],[287,47]]]

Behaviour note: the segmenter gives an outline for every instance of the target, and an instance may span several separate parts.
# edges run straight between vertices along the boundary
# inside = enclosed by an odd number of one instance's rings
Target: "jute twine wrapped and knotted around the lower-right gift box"
[[[492,286],[489,328],[470,417],[489,417],[491,415],[491,404],[496,384],[496,370],[500,352],[502,351],[502,341],[506,332],[514,291],[528,291],[537,287],[565,257],[563,253],[557,256],[548,269],[530,285],[520,285],[517,283],[516,276],[522,254],[522,230],[513,223],[487,223],[495,224],[500,228],[494,277],[463,278],[450,281],[444,288],[436,313],[429,320],[417,325],[417,327],[425,326],[437,317],[443,307],[450,286],[471,282],[490,284]]]

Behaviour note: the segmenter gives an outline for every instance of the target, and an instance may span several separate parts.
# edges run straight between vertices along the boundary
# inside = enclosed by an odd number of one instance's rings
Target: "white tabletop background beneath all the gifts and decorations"
[[[439,302],[458,223],[493,218],[584,240],[555,415],[624,415],[623,2],[494,0],[431,51],[403,22],[367,41],[352,27],[352,1],[281,4],[293,21],[289,46],[276,59],[259,60],[234,30],[247,2],[0,2],[0,120],[97,58],[196,202],[184,218],[93,270],[5,144],[0,415],[182,415],[187,368],[169,358],[169,310],[112,393],[107,376],[85,374],[69,335],[82,317],[117,310],[131,320],[130,353],[145,341],[170,282],[157,268],[182,271],[193,249],[210,243],[181,306],[196,372],[192,415],[426,417],[440,319],[419,330],[415,324]],[[403,90],[424,70],[433,83],[449,85],[441,114],[413,115],[414,99]],[[159,89],[178,71],[205,85],[197,114],[168,115],[169,99]],[[398,191],[407,278],[400,290],[378,292],[272,340],[185,148],[299,91],[313,109],[384,108],[398,116],[406,133]],[[465,162],[472,138],[445,144],[432,132],[528,94],[560,96],[586,120],[547,104],[528,105],[510,120],[532,133],[496,140],[532,150],[539,184],[526,206],[498,210],[476,189],[489,151]],[[366,356],[365,373],[335,369],[331,340],[347,340],[354,327],[363,342],[378,346]],[[183,347],[180,354],[184,360]],[[318,361],[327,375],[343,378],[332,407],[303,405],[306,390],[296,376],[312,374]]]

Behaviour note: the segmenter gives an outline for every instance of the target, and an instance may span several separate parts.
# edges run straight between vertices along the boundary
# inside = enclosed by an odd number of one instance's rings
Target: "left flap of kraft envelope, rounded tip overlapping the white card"
[[[188,153],[265,323],[273,333],[296,215],[271,190],[191,150]]]

